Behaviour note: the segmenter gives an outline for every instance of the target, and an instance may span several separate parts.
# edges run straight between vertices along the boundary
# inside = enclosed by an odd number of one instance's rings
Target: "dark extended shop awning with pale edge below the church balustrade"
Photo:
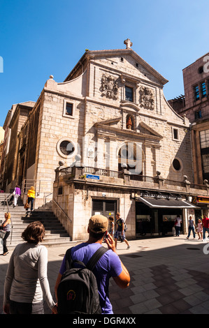
[[[196,205],[186,202],[185,200],[168,200],[151,197],[137,197],[136,200],[143,202],[148,207],[166,208],[166,209],[199,209]]]

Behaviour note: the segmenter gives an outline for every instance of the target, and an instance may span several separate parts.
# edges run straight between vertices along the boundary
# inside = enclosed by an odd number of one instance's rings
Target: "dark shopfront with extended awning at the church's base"
[[[181,195],[140,193],[136,197],[136,236],[173,234],[177,216],[182,218],[180,231],[184,230],[187,209],[196,209],[196,205]]]

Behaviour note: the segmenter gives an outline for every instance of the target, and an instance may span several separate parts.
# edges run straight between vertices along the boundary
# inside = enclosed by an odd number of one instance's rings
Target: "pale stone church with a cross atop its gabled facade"
[[[74,240],[87,237],[92,214],[117,211],[128,238],[141,223],[147,234],[172,232],[177,215],[186,232],[196,208],[189,120],[166,101],[168,81],[124,44],[87,50],[64,82],[51,75],[17,135],[13,184],[33,181],[36,207],[52,199]]]

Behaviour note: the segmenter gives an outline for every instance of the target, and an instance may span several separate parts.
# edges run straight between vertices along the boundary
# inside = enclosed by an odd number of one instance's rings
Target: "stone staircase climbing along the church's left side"
[[[3,206],[5,195],[8,197],[9,194],[0,193],[0,221],[2,222],[4,221],[4,213],[8,211],[6,203]],[[27,228],[27,225],[33,221],[41,221],[45,227],[45,238],[41,243],[42,245],[46,247],[69,246],[69,241],[71,240],[69,234],[52,212],[51,204],[34,209],[34,211],[29,213],[24,209],[20,197],[17,205],[17,207],[13,208],[13,202],[9,202],[13,231],[7,239],[8,250],[12,250],[17,244],[23,242],[21,238],[22,232]]]

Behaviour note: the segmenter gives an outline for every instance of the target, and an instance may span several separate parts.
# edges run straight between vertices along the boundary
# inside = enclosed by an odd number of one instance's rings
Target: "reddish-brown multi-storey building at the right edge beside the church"
[[[195,184],[209,181],[209,52],[182,70],[185,96],[169,100],[171,106],[190,122],[192,165]],[[194,197],[202,211],[209,198]]]

